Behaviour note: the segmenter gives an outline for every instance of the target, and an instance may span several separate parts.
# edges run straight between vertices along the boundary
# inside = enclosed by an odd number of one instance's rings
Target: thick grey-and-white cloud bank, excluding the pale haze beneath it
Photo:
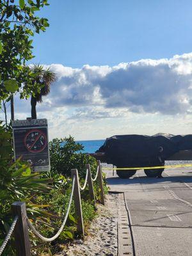
[[[103,106],[168,115],[188,113],[191,109],[192,53],[115,67],[49,67],[59,77],[49,95],[52,108]]]

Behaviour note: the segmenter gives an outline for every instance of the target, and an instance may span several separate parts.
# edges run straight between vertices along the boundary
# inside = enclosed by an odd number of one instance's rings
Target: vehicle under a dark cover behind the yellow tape
[[[192,135],[156,134],[144,135],[115,135],[107,138],[104,145],[92,154],[95,158],[117,168],[136,168],[146,166],[162,166],[159,162],[159,147],[163,148],[164,160],[192,159]],[[162,169],[145,170],[148,177],[157,177]],[[136,170],[117,170],[120,178],[129,178]],[[160,174],[161,175],[161,174]]]

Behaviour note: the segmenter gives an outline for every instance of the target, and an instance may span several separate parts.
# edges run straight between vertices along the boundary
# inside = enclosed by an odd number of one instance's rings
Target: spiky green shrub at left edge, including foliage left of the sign
[[[60,184],[58,177],[54,184]],[[44,173],[31,173],[29,165],[20,159],[13,163],[11,129],[0,124],[0,246],[13,221],[12,203],[24,201],[31,220],[47,220],[53,216],[45,205],[36,204],[36,195],[45,195],[53,188],[52,179],[45,178]],[[3,255],[14,255],[9,244]]]

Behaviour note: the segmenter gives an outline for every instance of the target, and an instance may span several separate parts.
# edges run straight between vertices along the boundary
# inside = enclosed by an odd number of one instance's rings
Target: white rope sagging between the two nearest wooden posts
[[[42,239],[42,241],[45,241],[45,242],[51,242],[53,241],[54,239],[56,239],[58,236],[60,236],[63,228],[65,227],[65,223],[67,221],[67,217],[68,217],[68,213],[69,213],[69,210],[70,210],[70,205],[72,203],[72,197],[73,197],[73,194],[74,194],[74,185],[75,185],[75,175],[72,177],[72,189],[71,189],[71,193],[70,193],[70,200],[68,202],[68,207],[67,207],[67,212],[65,214],[65,218],[63,220],[63,223],[60,227],[60,229],[58,230],[58,232],[53,236],[53,237],[50,237],[50,238],[47,238],[47,237],[44,237],[42,236],[36,229],[35,227],[33,226],[33,224],[31,223],[31,221],[29,221],[28,219],[28,226],[29,228],[31,228],[31,230],[33,230],[34,234],[39,237],[40,239]]]

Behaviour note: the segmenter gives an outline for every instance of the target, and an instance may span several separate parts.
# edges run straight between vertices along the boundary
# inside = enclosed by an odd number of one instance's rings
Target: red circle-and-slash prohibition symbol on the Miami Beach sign
[[[40,153],[47,146],[47,136],[39,129],[32,129],[24,137],[24,145],[29,152]]]

